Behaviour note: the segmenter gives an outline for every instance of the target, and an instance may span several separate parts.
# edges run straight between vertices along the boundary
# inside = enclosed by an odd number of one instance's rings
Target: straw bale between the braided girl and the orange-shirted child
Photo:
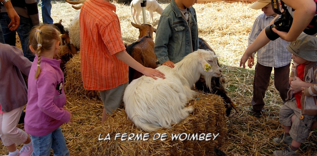
[[[83,82],[81,79],[80,66],[81,66],[80,53],[77,53],[76,55],[74,55],[74,57],[66,63],[65,92],[72,93],[80,97],[100,99],[98,91],[87,90],[84,88]]]

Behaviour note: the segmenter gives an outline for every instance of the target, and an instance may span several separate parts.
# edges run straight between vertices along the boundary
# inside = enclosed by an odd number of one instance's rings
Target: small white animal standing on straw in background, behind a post
[[[142,12],[141,2],[143,2],[143,0],[133,0],[130,3],[131,16],[132,16],[133,22],[137,24],[141,24],[139,20],[139,16]],[[150,17],[151,23],[153,23],[153,12],[157,12],[160,15],[163,12],[162,7],[159,5],[159,3],[156,0],[146,0],[145,9],[149,11],[149,17]]]

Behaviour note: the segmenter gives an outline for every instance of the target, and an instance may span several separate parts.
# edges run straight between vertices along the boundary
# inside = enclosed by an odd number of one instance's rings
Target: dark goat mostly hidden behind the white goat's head
[[[199,49],[213,51],[204,39],[198,38],[198,43],[199,43]],[[217,63],[218,63],[218,60],[217,60]],[[218,66],[219,66],[219,63],[218,63]],[[210,86],[212,88],[211,90],[207,87],[206,85],[207,82],[205,81],[204,77],[200,77],[200,79],[196,82],[195,86],[196,86],[196,89],[202,90],[205,93],[216,94],[222,97],[225,103],[226,116],[229,116],[231,113],[232,107],[236,110],[237,113],[238,113],[238,110],[236,109],[236,105],[233,103],[231,98],[227,95],[228,92],[226,90],[226,87],[224,86],[225,82],[226,82],[226,78],[223,77],[223,75],[221,74],[219,77],[212,77],[211,81],[208,82],[210,83]]]

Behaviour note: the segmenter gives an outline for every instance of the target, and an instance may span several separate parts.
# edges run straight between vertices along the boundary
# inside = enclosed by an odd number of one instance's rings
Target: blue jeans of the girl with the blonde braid
[[[55,131],[45,136],[30,136],[33,142],[33,156],[49,156],[51,149],[53,149],[54,156],[69,156],[61,127],[58,127]]]

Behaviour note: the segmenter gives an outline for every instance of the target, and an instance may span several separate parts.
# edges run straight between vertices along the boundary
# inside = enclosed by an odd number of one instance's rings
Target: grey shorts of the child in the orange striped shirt
[[[108,114],[112,114],[122,104],[124,90],[128,83],[119,85],[116,88],[99,91],[101,101]]]

